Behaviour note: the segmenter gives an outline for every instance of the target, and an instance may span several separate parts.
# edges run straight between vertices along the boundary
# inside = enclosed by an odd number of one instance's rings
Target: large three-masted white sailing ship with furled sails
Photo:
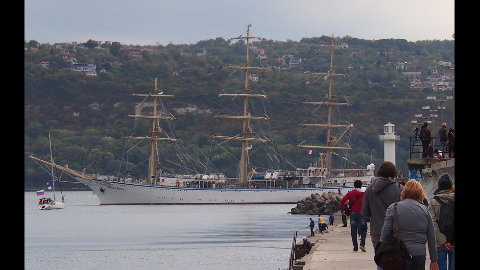
[[[225,69],[240,70],[242,72],[243,91],[234,94],[220,92],[219,98],[232,98],[240,102],[243,110],[237,115],[220,115],[216,114],[216,118],[224,118],[227,120],[240,121],[242,128],[240,134],[232,136],[224,136],[215,133],[211,136],[220,144],[239,143],[240,162],[236,177],[226,177],[223,173],[187,173],[176,174],[174,172],[166,172],[159,169],[158,143],[172,142],[175,143],[179,139],[165,136],[160,125],[161,121],[171,121],[174,117],[159,110],[163,98],[174,98],[173,95],[165,94],[157,89],[157,79],[155,78],[155,86],[153,93],[133,94],[133,97],[150,99],[153,103],[151,114],[130,114],[133,117],[144,121],[150,121],[151,127],[148,134],[144,136],[124,136],[126,140],[135,140],[150,144],[149,150],[149,166],[148,176],[146,179],[131,178],[129,174],[126,176],[99,175],[83,171],[76,171],[68,166],[60,166],[53,162],[41,160],[37,157],[30,156],[31,159],[39,164],[52,165],[60,171],[66,172],[81,183],[92,189],[98,197],[100,204],[276,204],[276,203],[296,203],[298,200],[310,196],[311,194],[322,194],[324,192],[340,192],[347,193],[354,189],[353,182],[362,180],[368,185],[374,177],[373,164],[365,169],[355,169],[355,173],[345,170],[330,169],[331,156],[334,149],[340,149],[338,139],[327,140],[327,146],[307,146],[303,143],[299,147],[326,149],[325,154],[320,154],[319,159],[310,163],[307,168],[286,170],[265,170],[257,172],[256,167],[249,165],[248,150],[253,144],[268,144],[270,139],[257,138],[253,136],[251,122],[268,121],[265,116],[255,116],[254,111],[249,109],[250,99],[268,98],[265,93],[253,93],[249,87],[249,74],[255,70],[264,70],[264,68],[251,67],[249,61],[249,48],[251,40],[261,40],[260,37],[250,36],[250,26],[247,25],[246,36],[240,35],[232,39],[243,39],[246,43],[245,65],[234,67],[227,66]],[[311,126],[327,128],[328,138],[331,136],[333,128],[347,128],[348,131],[353,125],[343,126],[331,123],[332,106],[349,105],[346,103],[336,103],[332,95],[332,79],[339,74],[333,71],[333,50],[339,48],[334,46],[334,37],[332,36],[332,45],[320,46],[332,50],[330,71],[324,74],[313,74],[314,76],[324,76],[330,80],[330,90],[327,96],[327,102],[311,102],[306,104],[326,105],[329,107],[327,124],[311,124]],[[343,48],[340,46],[340,48]],[[307,126],[309,124],[302,123]],[[344,132],[344,133],[345,133]],[[347,147],[349,148],[349,147]],[[348,172],[348,173],[345,173]]]

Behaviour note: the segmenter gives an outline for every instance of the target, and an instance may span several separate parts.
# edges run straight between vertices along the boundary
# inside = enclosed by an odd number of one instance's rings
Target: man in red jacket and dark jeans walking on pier
[[[363,200],[363,191],[361,191],[362,182],[360,180],[355,180],[353,186],[354,190],[349,191],[343,198],[340,200],[340,208],[342,210],[342,215],[345,215],[344,203],[348,200],[350,206],[350,232],[352,234],[352,243],[353,243],[353,252],[359,250],[358,243],[358,225],[360,224],[360,249],[362,252],[365,252],[365,238],[367,237],[367,218],[361,214],[361,203]]]

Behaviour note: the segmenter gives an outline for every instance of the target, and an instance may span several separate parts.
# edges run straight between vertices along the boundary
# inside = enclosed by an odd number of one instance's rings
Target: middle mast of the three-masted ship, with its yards
[[[240,156],[240,176],[239,176],[239,181],[240,183],[243,183],[246,181],[247,178],[247,164],[246,164],[246,147],[248,145],[249,141],[254,141],[254,142],[270,142],[269,139],[261,139],[261,138],[249,138],[248,135],[253,133],[252,129],[249,127],[249,121],[250,120],[269,120],[268,117],[258,117],[258,116],[251,116],[248,110],[248,98],[267,98],[267,95],[255,95],[255,94],[250,94],[252,92],[251,89],[248,88],[248,72],[251,70],[264,70],[264,68],[255,68],[255,67],[250,67],[250,61],[248,60],[248,50],[250,47],[250,39],[258,39],[262,40],[261,37],[252,37],[250,36],[250,26],[251,24],[247,25],[247,36],[242,37],[241,35],[239,37],[235,37],[232,39],[245,39],[246,40],[246,59],[245,59],[245,66],[243,67],[225,67],[225,69],[235,69],[235,70],[243,70],[244,71],[244,89],[243,89],[243,94],[225,94],[225,93],[220,93],[218,94],[219,97],[224,97],[224,96],[230,96],[233,98],[243,98],[243,114],[241,116],[233,116],[233,115],[215,115],[214,117],[220,117],[220,118],[230,118],[230,119],[240,119],[243,123],[242,127],[242,132],[241,134],[235,135],[235,136],[216,136],[213,135],[211,136],[212,139],[222,139],[225,140],[221,142],[220,144],[223,144],[226,141],[230,140],[236,140],[236,141],[241,141],[241,156]],[[220,145],[219,144],[219,145]]]

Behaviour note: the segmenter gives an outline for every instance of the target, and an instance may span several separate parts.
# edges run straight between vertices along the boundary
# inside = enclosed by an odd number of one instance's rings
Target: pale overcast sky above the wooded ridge
[[[24,0],[24,40],[194,44],[250,35],[453,40],[455,0]]]

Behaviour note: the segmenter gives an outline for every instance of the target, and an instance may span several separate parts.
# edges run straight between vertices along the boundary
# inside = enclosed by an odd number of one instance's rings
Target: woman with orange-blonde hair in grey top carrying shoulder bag
[[[404,269],[425,270],[427,258],[426,244],[428,242],[430,270],[438,270],[435,228],[433,227],[432,216],[423,204],[424,198],[425,192],[422,184],[414,179],[410,179],[402,190],[400,195],[401,201],[391,204],[385,212],[380,243],[390,237],[397,238],[398,229],[398,236],[407,247],[409,253],[407,256],[411,256],[411,260],[408,260],[411,265]],[[396,213],[395,204],[397,204]],[[395,214],[397,214],[398,219],[395,219]],[[398,224],[398,227],[396,224]],[[376,252],[381,249],[381,245]]]

